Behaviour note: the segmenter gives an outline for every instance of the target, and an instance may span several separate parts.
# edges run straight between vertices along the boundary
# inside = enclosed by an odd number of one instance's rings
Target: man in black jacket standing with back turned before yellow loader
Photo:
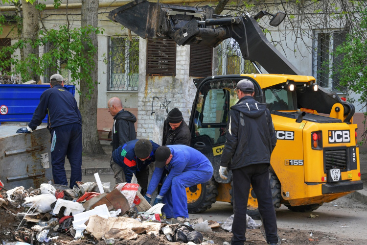
[[[227,179],[232,171],[233,211],[231,245],[246,241],[246,211],[250,185],[257,196],[267,243],[276,245],[277,226],[269,182],[270,156],[276,144],[273,121],[266,104],[257,102],[252,81],[237,83],[238,102],[229,111],[226,144],[221,157],[219,175]]]

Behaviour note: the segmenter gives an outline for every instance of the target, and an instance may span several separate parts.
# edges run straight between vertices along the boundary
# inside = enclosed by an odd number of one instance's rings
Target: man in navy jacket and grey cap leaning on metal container
[[[18,129],[17,133],[32,133],[48,114],[53,181],[55,184],[68,185],[64,166],[67,156],[72,188],[76,181],[82,180],[82,116],[74,96],[64,89],[64,78],[60,74],[50,77],[50,87],[42,93],[28,126]]]

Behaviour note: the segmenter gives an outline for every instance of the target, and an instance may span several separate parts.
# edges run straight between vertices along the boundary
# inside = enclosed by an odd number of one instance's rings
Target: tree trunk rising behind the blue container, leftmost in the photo
[[[37,4],[37,1],[35,1],[33,4],[30,2],[22,1],[23,6],[23,39],[28,41],[35,41],[38,38],[38,12],[36,10],[35,5]],[[29,57],[30,54],[34,54],[36,58],[39,57],[39,51],[38,46],[35,48],[32,48],[32,45],[30,43],[27,43],[23,48],[23,57],[22,59],[26,59]],[[30,64],[29,67],[36,66],[36,62],[32,62],[33,64]],[[36,73],[32,73],[31,69],[28,69],[29,75],[31,79],[35,81],[40,80],[40,76]]]

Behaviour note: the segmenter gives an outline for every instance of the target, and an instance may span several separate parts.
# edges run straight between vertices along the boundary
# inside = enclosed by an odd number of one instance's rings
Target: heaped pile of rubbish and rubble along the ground
[[[0,215],[6,212],[17,220],[14,227],[6,229],[1,227],[0,219],[0,232],[5,234],[11,230],[13,239],[7,236],[4,240],[0,234],[2,244],[53,245],[72,240],[88,244],[104,240],[103,244],[114,244],[137,240],[144,235],[153,241],[150,244],[208,245],[214,242],[205,239],[201,232],[212,232],[212,228],[219,227],[231,231],[233,216],[223,224],[202,218],[166,219],[161,213],[164,204],[151,207],[138,192],[137,183],[121,183],[113,191],[110,191],[110,183],[101,183],[99,177],[96,182],[77,184],[73,189],[44,183],[39,189],[25,190],[20,186],[0,191]],[[258,228],[260,225],[248,217],[248,226]],[[14,240],[19,242],[12,243]]]

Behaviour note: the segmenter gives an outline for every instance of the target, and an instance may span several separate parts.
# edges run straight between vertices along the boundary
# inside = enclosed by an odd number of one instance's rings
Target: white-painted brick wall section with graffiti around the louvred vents
[[[139,138],[153,138],[153,112],[179,108],[188,124],[196,87],[189,77],[190,46],[177,46],[176,76],[146,76],[146,40],[139,41],[138,134]],[[153,97],[158,97],[154,98]],[[167,107],[167,110],[165,110]],[[157,130],[155,128],[154,130]],[[155,132],[156,134],[157,132]]]

